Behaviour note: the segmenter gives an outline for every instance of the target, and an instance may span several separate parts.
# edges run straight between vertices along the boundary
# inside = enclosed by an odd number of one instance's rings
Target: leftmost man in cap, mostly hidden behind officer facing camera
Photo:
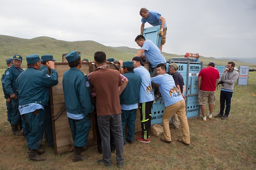
[[[12,58],[6,59],[7,68],[11,67],[12,63],[13,63]],[[6,73],[6,70],[5,70],[5,73]],[[11,121],[12,121],[12,103],[11,103],[10,95],[5,91],[5,74],[2,75],[1,80],[2,80],[2,90],[4,92],[5,99],[6,99],[7,121],[9,121],[11,123]]]

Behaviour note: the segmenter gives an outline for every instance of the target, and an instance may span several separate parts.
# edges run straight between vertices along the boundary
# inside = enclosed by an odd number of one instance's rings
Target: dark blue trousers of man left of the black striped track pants
[[[128,135],[127,139],[133,141],[133,136],[135,133],[135,120],[137,109],[132,110],[121,110],[122,111],[122,126],[123,126],[123,144],[126,144],[126,122],[127,122],[127,129]]]

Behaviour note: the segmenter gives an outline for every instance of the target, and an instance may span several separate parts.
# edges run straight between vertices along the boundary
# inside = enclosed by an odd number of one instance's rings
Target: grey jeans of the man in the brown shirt
[[[102,139],[102,154],[104,163],[111,165],[110,130],[116,145],[116,162],[123,163],[123,130],[121,113],[114,115],[98,116],[98,125]]]

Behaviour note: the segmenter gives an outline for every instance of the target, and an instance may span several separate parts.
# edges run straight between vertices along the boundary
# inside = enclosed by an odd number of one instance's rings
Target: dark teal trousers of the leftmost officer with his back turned
[[[38,109],[38,115],[33,112],[22,114],[21,119],[28,148],[38,150],[43,139],[45,110]]]

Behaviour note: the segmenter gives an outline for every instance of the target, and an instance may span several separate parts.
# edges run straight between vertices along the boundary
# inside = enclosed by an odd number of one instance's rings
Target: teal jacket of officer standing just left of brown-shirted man
[[[64,72],[62,79],[66,111],[87,116],[93,110],[88,77],[76,68]]]

